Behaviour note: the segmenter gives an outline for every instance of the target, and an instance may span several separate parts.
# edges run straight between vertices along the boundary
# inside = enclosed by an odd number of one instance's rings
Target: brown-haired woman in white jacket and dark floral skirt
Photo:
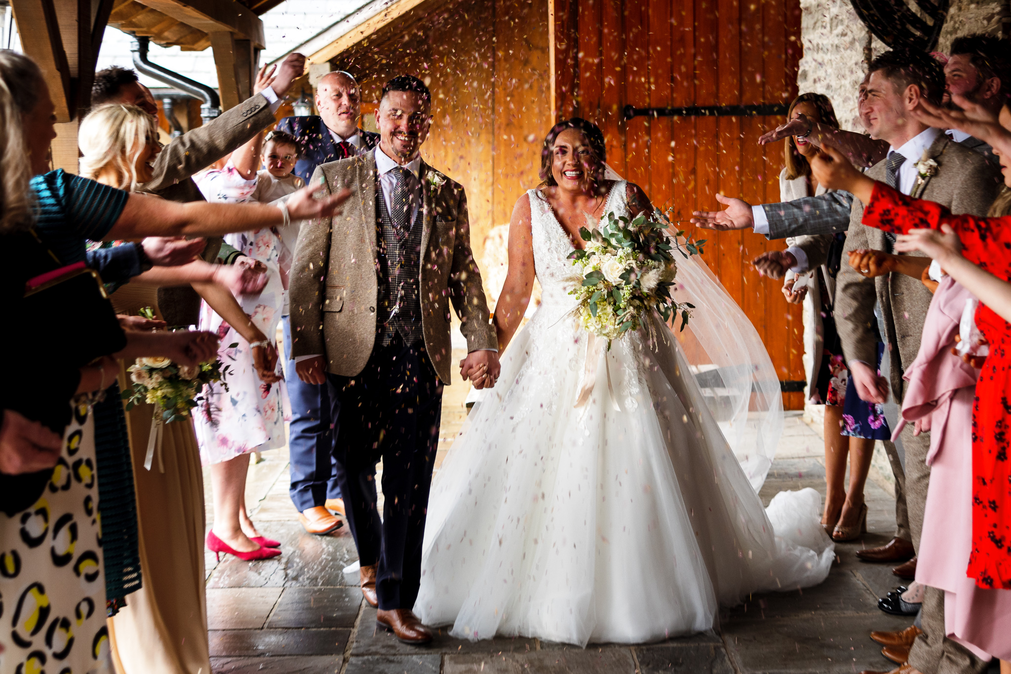
[[[798,96],[787,111],[788,118],[804,116],[838,127],[832,102],[822,94]],[[819,149],[807,138],[791,136],[784,148],[786,166],[779,173],[779,199],[793,201],[825,193],[811,176],[809,161]],[[783,292],[788,301],[803,302],[805,363],[808,368],[809,400],[825,406],[825,511],[822,526],[834,541],[852,541],[866,531],[867,507],[863,485],[870,470],[875,440],[888,437],[881,405],[868,404],[848,385],[849,377],[832,315],[835,276],[839,270],[845,233],[787,237],[786,251],[758,256],[754,265],[772,278],[785,276]],[[804,285],[795,292],[798,279]],[[845,488],[846,458],[849,458],[849,490]]]

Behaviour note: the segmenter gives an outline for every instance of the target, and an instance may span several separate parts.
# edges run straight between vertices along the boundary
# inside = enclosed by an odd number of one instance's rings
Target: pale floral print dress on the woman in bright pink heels
[[[244,180],[231,161],[224,169],[211,169],[195,179],[207,201],[249,201],[257,186],[256,178]],[[285,256],[286,249],[281,237],[269,227],[226,234],[224,240],[267,266],[268,280],[263,291],[236,299],[253,323],[274,342],[285,293],[279,260]],[[283,377],[275,384],[261,380],[253,366],[253,350],[249,343],[206,302],[200,305],[200,329],[220,338],[217,356],[222,365],[229,368],[224,385],[215,384],[204,389],[203,400],[193,414],[201,463],[207,466],[249,452],[284,447],[283,401],[286,392]],[[281,374],[280,359],[277,372]]]

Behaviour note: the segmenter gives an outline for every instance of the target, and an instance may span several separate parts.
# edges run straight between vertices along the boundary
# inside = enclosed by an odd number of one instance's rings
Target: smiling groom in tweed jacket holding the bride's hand
[[[449,303],[469,354],[460,374],[476,388],[498,376],[497,340],[470,251],[463,187],[422,161],[432,95],[408,75],[383,87],[379,146],[324,164],[310,181],[348,187],[356,205],[302,225],[291,279],[291,355],[302,381],[327,383],[338,431],[334,457],[362,593],[376,619],[408,644],[432,633],[411,611],[450,381]],[[356,207],[357,206],[357,207]],[[382,459],[380,520],[375,467]]]

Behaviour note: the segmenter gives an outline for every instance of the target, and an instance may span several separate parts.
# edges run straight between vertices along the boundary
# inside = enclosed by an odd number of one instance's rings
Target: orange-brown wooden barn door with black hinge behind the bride
[[[722,192],[758,204],[779,200],[783,143],[758,136],[785,117],[636,116],[624,108],[789,103],[797,96],[800,0],[553,0],[553,107],[557,118],[595,121],[608,161],[657,206],[686,221],[716,210]],[[749,261],[782,250],[750,230],[699,230],[703,259],[754,323],[786,388],[804,380],[801,307],[782,282]],[[787,409],[803,393],[784,393]]]

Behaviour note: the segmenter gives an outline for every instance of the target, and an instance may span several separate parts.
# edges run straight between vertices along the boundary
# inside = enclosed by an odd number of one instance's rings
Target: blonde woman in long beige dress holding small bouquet
[[[151,179],[151,164],[161,152],[156,131],[154,119],[135,106],[95,108],[81,122],[82,175],[135,192]],[[143,199],[159,198],[145,195]],[[245,339],[266,342],[232,292],[216,283],[226,272],[215,267],[194,262],[155,268],[117,289],[111,295],[113,305],[125,314],[151,306],[160,316],[156,288],[191,283]],[[277,360],[273,349],[268,345],[256,351],[259,368],[272,372]],[[119,384],[128,385],[122,367]],[[177,421],[163,427],[160,449],[156,443],[155,451],[149,453],[153,414],[151,405],[137,405],[127,413],[144,585],[109,620],[113,657],[118,669],[127,674],[209,672],[199,451],[192,422]],[[263,557],[273,556],[263,550]]]

